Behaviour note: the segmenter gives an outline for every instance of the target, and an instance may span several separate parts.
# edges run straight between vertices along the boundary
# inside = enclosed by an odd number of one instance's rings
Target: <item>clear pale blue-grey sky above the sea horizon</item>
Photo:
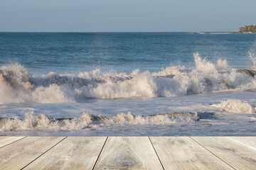
[[[0,31],[236,31],[256,25],[255,0],[0,0]]]

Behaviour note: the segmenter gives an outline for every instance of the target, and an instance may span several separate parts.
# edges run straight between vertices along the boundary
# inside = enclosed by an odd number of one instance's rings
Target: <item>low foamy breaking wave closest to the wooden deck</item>
[[[89,115],[79,118],[49,119],[46,115],[26,113],[24,119],[0,118],[0,131],[22,130],[83,130],[97,129],[113,125],[166,125],[174,123],[193,123],[198,120],[197,113],[165,113],[156,115],[134,115],[119,113],[113,116]]]

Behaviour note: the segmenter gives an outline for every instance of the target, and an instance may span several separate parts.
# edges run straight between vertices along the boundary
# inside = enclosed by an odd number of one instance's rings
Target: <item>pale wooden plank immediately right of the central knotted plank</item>
[[[233,169],[190,137],[150,137],[164,169]]]

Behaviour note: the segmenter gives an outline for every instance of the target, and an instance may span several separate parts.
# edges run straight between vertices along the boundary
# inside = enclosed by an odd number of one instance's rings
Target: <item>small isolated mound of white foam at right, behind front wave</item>
[[[221,108],[221,111],[227,111],[230,113],[255,113],[255,108],[245,101],[238,99],[228,99],[222,101],[217,105]]]

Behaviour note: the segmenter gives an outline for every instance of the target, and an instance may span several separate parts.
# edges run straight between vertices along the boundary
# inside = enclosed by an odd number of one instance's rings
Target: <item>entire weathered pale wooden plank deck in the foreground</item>
[[[256,137],[0,137],[0,169],[256,169]]]

